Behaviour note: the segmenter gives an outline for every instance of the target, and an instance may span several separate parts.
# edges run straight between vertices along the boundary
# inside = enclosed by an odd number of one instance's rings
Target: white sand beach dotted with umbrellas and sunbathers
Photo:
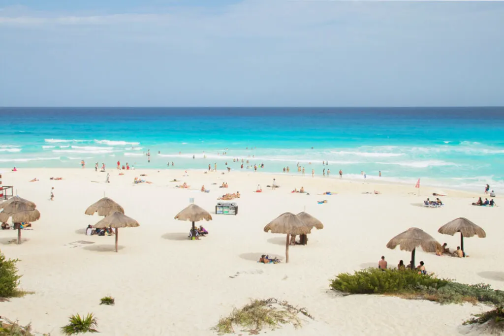
[[[413,185],[339,180],[336,174],[312,178],[298,173],[222,175],[191,170],[183,176],[182,170],[139,169],[118,176],[114,168],[108,169],[110,183],[105,183],[105,173],[94,167],[0,171],[3,185],[14,186],[14,193],[34,201],[41,213],[32,230],[22,231],[21,245],[10,243],[17,231],[0,231],[2,252],[21,259],[21,287],[35,292],[0,303],[1,314],[22,324],[32,322],[35,330],[51,335],[60,334],[71,314],[88,312],[96,314],[102,335],[212,335],[211,327],[234,306],[270,297],[305,307],[314,320],[305,320],[300,329],[283,327],[268,334],[477,334],[461,323],[471,313],[488,310],[485,306],[379,295],[344,297],[329,289],[330,279],[338,273],[376,266],[382,255],[392,266],[400,259],[408,263],[409,252],[390,250],[386,244],[410,227],[455,248],[460,236],[442,235],[437,229],[458,217],[470,219],[487,234],[464,240],[470,257],[419,250],[416,263],[423,260],[427,271],[440,277],[504,290],[503,208],[470,205],[483,194],[446,190],[449,196],[440,197],[445,206],[430,209],[423,207],[423,200],[432,197],[435,188],[422,186],[417,195]],[[134,184],[140,174],[152,184]],[[39,181],[29,182],[35,177]],[[280,188],[266,187],[273,178]],[[190,189],[175,188],[182,182]],[[219,188],[222,182],[229,188]],[[200,191],[203,184],[209,193]],[[254,192],[258,184],[262,193]],[[291,193],[301,186],[309,194]],[[381,194],[373,194],[374,190]],[[217,197],[236,191],[241,194],[236,199],[238,214],[216,215]],[[324,191],[337,194],[320,195]],[[101,217],[84,211],[104,194],[140,223],[137,228],[119,229],[118,253],[113,251],[114,237],[85,235],[85,228]],[[213,216],[210,222],[197,223],[210,232],[199,241],[187,239],[191,223],[173,218],[190,197]],[[500,198],[494,199],[501,206]],[[321,200],[327,203],[318,204]],[[264,226],[284,212],[303,210],[321,220],[324,229],[313,229],[306,246],[291,246],[288,264],[258,263],[261,254],[285,258],[285,235],[265,233]],[[74,243],[78,241],[92,243]],[[115,298],[115,306],[99,305],[106,295]]]

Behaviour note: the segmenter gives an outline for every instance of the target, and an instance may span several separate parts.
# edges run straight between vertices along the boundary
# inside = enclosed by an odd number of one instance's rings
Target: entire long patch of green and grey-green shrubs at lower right
[[[504,292],[490,285],[466,285],[434,274],[418,274],[413,270],[365,268],[354,274],[341,273],[331,280],[333,290],[347,294],[384,294],[405,299],[424,299],[440,304],[486,303],[504,304]]]

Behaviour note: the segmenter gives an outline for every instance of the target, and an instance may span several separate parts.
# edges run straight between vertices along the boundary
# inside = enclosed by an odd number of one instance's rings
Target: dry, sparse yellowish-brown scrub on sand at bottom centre
[[[245,328],[250,334],[257,334],[263,327],[271,329],[281,327],[282,324],[293,324],[295,328],[301,326],[299,314],[313,319],[304,308],[297,308],[287,301],[275,298],[267,300],[251,300],[242,308],[233,308],[227,317],[221,317],[214,330],[218,334],[234,332],[234,326]]]

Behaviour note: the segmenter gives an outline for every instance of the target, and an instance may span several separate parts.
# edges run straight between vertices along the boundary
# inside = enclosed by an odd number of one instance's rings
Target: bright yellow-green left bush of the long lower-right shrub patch
[[[420,286],[440,288],[450,280],[418,274],[412,270],[385,270],[365,268],[354,274],[341,273],[331,281],[334,290],[350,294],[386,294],[414,291]]]

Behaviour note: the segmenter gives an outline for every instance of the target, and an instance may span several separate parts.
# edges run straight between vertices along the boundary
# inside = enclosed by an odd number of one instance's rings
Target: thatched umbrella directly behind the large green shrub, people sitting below
[[[415,250],[418,246],[421,246],[425,252],[435,252],[442,249],[441,244],[432,238],[432,236],[418,228],[409,228],[387,243],[387,247],[390,249],[396,248],[397,245],[399,245],[401,251],[411,252],[412,270],[415,268]]]

